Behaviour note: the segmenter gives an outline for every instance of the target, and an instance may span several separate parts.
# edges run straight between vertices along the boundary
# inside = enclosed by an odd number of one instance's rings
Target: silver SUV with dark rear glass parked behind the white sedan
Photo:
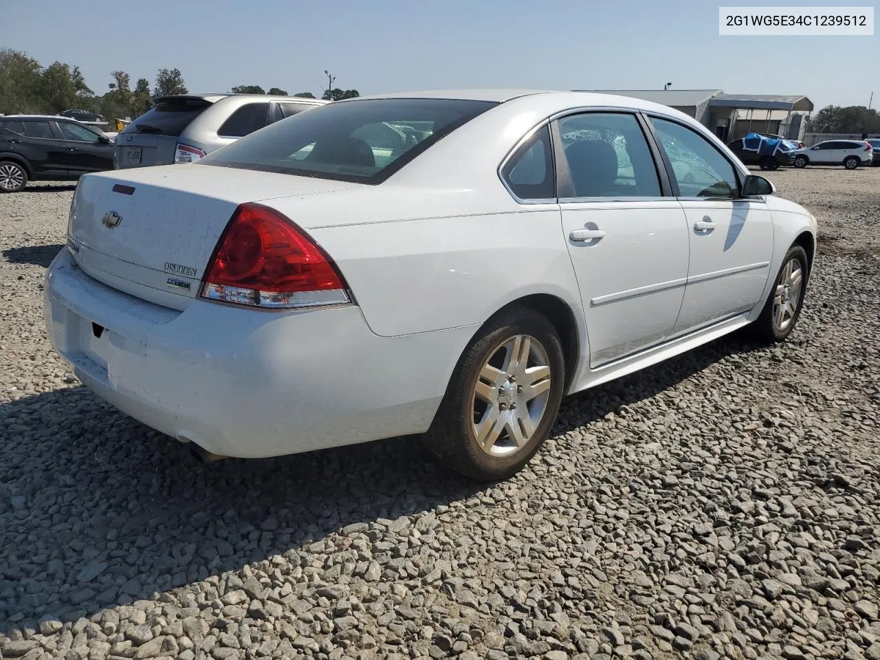
[[[116,167],[192,163],[239,137],[328,101],[264,94],[175,94],[116,138]]]

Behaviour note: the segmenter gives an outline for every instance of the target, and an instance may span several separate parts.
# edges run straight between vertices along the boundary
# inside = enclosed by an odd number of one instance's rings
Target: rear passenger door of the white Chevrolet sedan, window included
[[[572,114],[556,128],[562,231],[596,368],[671,334],[687,277],[687,225],[681,205],[662,194],[634,114]]]

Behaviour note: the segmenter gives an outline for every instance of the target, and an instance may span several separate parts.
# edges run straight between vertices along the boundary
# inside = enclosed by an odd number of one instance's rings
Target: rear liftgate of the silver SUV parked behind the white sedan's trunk
[[[116,137],[116,166],[172,165],[178,137],[212,102],[197,96],[169,96],[154,101]]]

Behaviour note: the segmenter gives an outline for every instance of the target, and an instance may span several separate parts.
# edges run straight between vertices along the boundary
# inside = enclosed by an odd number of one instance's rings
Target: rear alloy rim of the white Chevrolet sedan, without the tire
[[[511,456],[534,435],[550,397],[550,361],[534,337],[517,334],[492,352],[473,387],[473,434],[490,456]]]

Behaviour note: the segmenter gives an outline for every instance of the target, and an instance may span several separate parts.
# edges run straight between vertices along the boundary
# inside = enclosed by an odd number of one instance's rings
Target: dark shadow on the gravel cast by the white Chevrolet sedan
[[[569,397],[554,435],[625,414],[622,407],[755,348],[733,335]],[[492,502],[488,487],[436,467],[414,437],[202,465],[82,386],[3,404],[0,432],[7,627],[92,617],[278,554],[305,568],[309,550],[322,549],[312,544],[348,525],[369,535],[450,502]],[[335,539],[336,551],[347,542]]]

